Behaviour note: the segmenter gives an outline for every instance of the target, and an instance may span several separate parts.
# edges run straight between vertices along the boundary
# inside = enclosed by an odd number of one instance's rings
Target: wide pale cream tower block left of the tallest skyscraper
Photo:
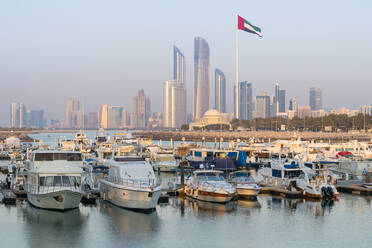
[[[179,128],[186,123],[186,89],[175,80],[163,84],[164,127]]]

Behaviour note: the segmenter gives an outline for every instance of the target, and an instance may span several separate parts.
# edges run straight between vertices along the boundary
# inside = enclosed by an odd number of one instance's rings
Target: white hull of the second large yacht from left
[[[131,188],[115,187],[111,183],[101,181],[100,191],[104,200],[123,208],[152,211],[158,203],[161,189],[136,190]]]

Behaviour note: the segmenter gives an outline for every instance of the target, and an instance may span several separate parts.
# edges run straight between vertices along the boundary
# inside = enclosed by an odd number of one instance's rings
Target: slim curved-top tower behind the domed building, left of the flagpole
[[[214,108],[226,113],[226,78],[220,69],[214,72]]]

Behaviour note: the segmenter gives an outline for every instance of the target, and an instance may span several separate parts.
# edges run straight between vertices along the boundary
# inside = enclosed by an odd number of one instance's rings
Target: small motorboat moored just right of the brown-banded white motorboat
[[[261,191],[261,187],[255,182],[251,172],[247,170],[230,173],[228,181],[235,186],[238,197],[257,197]]]

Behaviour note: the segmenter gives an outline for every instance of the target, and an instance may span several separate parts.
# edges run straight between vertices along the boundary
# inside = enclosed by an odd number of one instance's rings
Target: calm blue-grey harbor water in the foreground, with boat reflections
[[[226,205],[171,198],[151,214],[100,201],[65,213],[0,204],[1,247],[371,247],[372,201]]]

